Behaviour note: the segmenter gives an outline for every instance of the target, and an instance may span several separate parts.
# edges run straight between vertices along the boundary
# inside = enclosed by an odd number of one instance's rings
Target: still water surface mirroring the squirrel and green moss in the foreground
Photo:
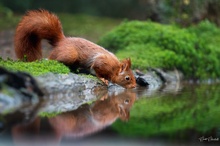
[[[103,92],[53,112],[43,100],[0,114],[0,146],[220,145],[219,93],[219,84]]]

